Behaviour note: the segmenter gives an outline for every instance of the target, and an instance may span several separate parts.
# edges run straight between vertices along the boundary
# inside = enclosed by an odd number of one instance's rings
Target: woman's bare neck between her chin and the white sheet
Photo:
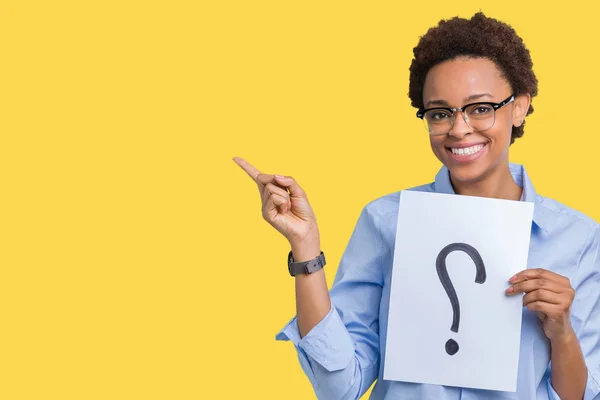
[[[457,194],[491,197],[504,200],[520,200],[523,190],[512,178],[508,163],[503,163],[477,181],[459,182],[450,174],[450,181]]]

